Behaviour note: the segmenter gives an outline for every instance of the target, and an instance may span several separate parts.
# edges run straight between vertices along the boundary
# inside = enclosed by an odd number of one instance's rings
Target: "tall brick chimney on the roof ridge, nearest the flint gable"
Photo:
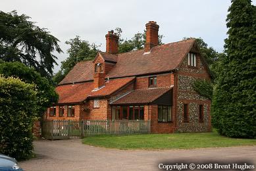
[[[145,51],[150,51],[150,49],[156,45],[158,45],[158,30],[159,25],[157,22],[149,21],[146,25],[146,43],[145,43]]]

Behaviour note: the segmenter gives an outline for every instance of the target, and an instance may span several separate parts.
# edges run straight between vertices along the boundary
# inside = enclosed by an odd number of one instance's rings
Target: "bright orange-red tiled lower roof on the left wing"
[[[55,90],[59,94],[58,103],[79,103],[88,97],[111,95],[133,80],[134,77],[109,80],[109,82],[105,83],[104,87],[101,87],[97,91],[93,91],[93,82],[59,85]]]

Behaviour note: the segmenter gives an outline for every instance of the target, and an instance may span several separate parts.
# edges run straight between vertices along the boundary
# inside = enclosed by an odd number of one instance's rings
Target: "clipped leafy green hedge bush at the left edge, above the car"
[[[32,157],[32,123],[38,110],[34,89],[34,84],[0,76],[0,153],[16,159]]]

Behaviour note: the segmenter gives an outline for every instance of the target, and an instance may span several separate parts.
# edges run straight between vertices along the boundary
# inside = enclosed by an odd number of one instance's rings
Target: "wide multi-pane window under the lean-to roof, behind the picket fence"
[[[112,120],[144,120],[144,106],[112,107]]]

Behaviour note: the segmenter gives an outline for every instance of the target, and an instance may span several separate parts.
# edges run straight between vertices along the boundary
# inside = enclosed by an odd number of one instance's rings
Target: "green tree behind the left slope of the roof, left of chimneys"
[[[89,41],[80,39],[80,36],[66,41],[66,44],[70,45],[67,51],[69,57],[61,62],[61,70],[53,76],[53,82],[55,82],[55,84],[61,82],[64,76],[68,74],[77,62],[94,59],[99,51],[99,45],[95,45],[95,43],[90,44]]]

